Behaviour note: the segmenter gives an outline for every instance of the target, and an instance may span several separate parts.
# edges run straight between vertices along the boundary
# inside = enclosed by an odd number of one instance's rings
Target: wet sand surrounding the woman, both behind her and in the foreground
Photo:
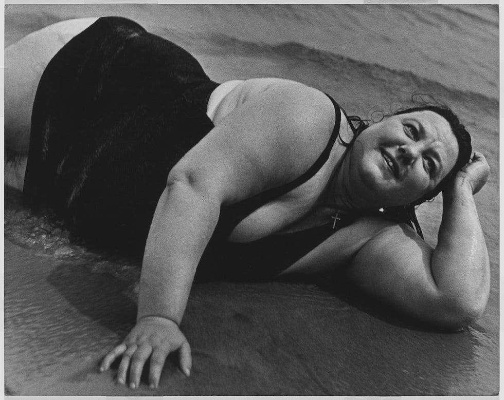
[[[7,12],[6,37],[19,34],[16,29],[23,25],[9,20]],[[191,377],[170,358],[157,390],[148,390],[143,380],[133,391],[114,382],[115,369],[99,374],[98,363],[134,324],[139,263],[76,243],[47,213],[30,213],[21,194],[6,187],[6,394],[497,394],[497,101],[341,56],[310,64],[293,55],[285,63],[280,49],[250,58],[232,43],[227,52],[211,44],[186,47],[216,81],[271,75],[299,80],[334,94],[348,113],[363,116],[373,107],[407,102],[412,92],[435,92],[469,121],[474,146],[492,167],[476,196],[491,261],[484,315],[461,332],[447,333],[406,320],[344,280],[196,283],[182,323],[192,346]],[[419,209],[433,244],[440,210],[440,199]]]

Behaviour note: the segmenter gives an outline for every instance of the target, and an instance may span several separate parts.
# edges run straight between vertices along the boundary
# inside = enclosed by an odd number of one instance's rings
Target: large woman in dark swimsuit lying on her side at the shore
[[[483,312],[489,261],[473,194],[489,166],[448,108],[367,126],[298,82],[215,83],[185,50],[119,17],[34,32],[5,64],[6,145],[28,153],[27,204],[103,245],[145,247],[136,326],[101,365],[122,356],[119,382],[138,387],[149,365],[157,386],[175,351],[190,374],[179,324],[195,276],[345,266],[418,320],[455,328]],[[441,191],[432,248],[413,207]]]

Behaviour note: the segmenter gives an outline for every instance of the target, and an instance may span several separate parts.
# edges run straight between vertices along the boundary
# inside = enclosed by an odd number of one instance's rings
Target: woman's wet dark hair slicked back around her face
[[[394,116],[394,115],[400,115],[400,114],[406,114],[409,112],[415,112],[415,111],[433,111],[436,112],[438,115],[443,117],[446,121],[448,121],[450,127],[452,128],[452,132],[457,139],[457,143],[459,146],[459,151],[458,151],[458,156],[457,156],[457,161],[455,162],[455,166],[448,172],[448,174],[442,179],[442,181],[433,189],[433,191],[427,193],[425,196],[422,196],[421,198],[411,202],[410,204],[404,204],[404,205],[399,205],[399,206],[394,206],[394,207],[384,207],[383,213],[387,218],[401,221],[401,222],[406,222],[408,223],[411,227],[415,227],[417,230],[417,233],[422,237],[422,230],[420,228],[420,224],[418,223],[417,216],[415,214],[415,206],[422,204],[425,201],[429,201],[434,199],[443,189],[447,186],[449,181],[457,174],[457,172],[469,162],[473,149],[471,146],[471,136],[469,135],[469,132],[465,128],[464,125],[460,122],[459,118],[455,113],[452,111],[451,108],[447,107],[444,104],[438,103],[436,101],[433,102],[432,98],[430,98],[430,104],[427,103],[424,99],[424,97],[420,97],[420,101],[415,98],[415,96],[412,97],[413,103],[415,103],[415,107],[409,107],[409,108],[403,108],[399,109],[395,112],[392,112],[389,115],[384,115],[384,117],[387,116]],[[418,105],[418,103],[421,102],[423,104]],[[433,104],[435,103],[435,104]],[[339,139],[341,142],[346,147],[351,147],[353,143],[355,142],[355,139],[357,138],[358,135],[360,135],[368,126],[369,123],[366,120],[363,120],[357,116],[347,116],[348,120],[350,121],[351,128],[353,130],[354,136],[350,142],[345,142],[341,136],[339,136]],[[414,225],[414,226],[413,226]]]

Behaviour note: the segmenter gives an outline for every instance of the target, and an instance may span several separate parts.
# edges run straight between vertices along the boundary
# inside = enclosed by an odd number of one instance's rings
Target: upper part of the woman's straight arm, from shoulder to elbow
[[[322,92],[293,83],[256,94],[231,111],[172,169],[221,203],[290,182],[317,159],[335,113]]]

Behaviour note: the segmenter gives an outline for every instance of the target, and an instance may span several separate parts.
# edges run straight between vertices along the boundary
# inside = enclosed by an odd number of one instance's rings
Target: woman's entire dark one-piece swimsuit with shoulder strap
[[[54,209],[89,241],[142,251],[170,169],[213,128],[206,109],[218,86],[181,47],[125,18],[100,18],[42,75],[26,204]],[[223,206],[196,278],[271,279],[335,232],[328,221],[247,243],[228,240],[247,215],[309,180],[328,160],[340,125],[340,108],[331,101],[336,123],[319,158],[294,181]]]

